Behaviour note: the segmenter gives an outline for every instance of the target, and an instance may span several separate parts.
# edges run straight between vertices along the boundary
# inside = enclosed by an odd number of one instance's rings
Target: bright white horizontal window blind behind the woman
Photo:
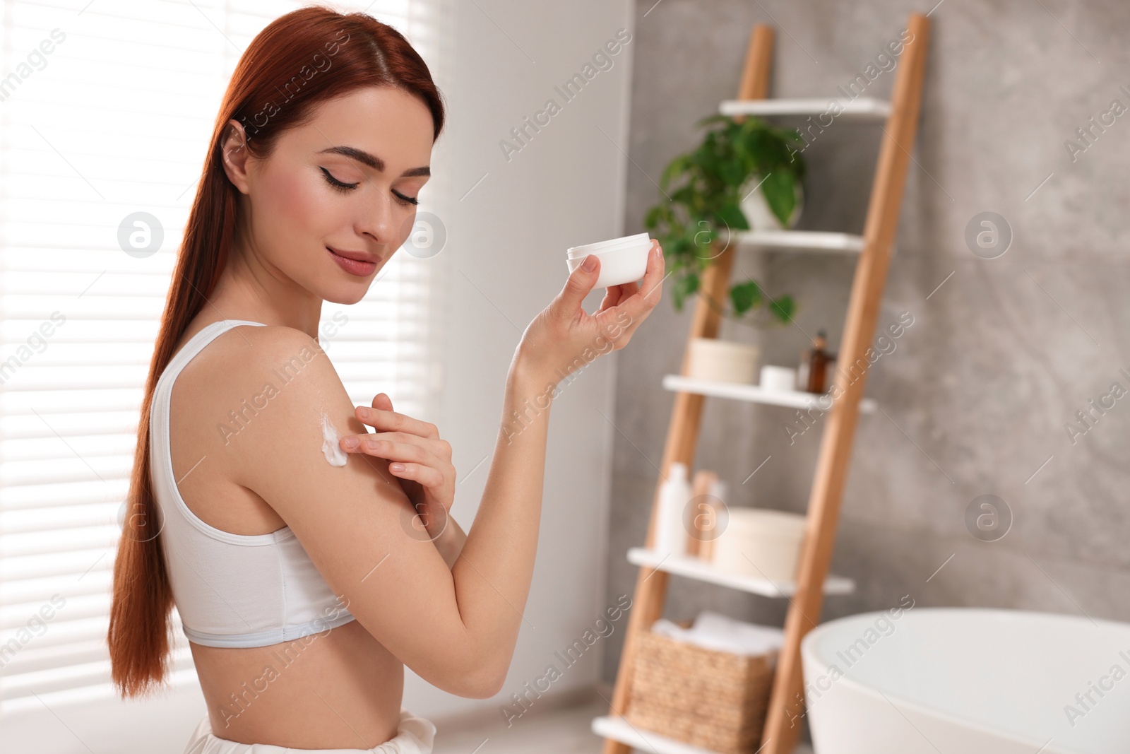
[[[331,2],[397,27],[441,90],[449,0]],[[142,390],[211,123],[285,0],[0,0],[0,716],[112,694],[112,567]],[[442,145],[442,140],[441,140]],[[440,146],[419,213],[443,216]],[[127,254],[136,211],[160,249]],[[399,251],[320,340],[355,404],[438,410],[444,255]],[[194,681],[174,610],[174,682]]]

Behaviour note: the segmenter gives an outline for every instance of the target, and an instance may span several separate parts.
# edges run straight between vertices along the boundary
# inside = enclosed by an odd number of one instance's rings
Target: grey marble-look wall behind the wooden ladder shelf
[[[737,92],[754,23],[777,27],[772,94],[824,97],[933,2],[638,3],[625,233],[642,229],[667,162],[697,142],[694,121]],[[918,606],[1130,621],[1130,397],[1106,399],[1113,408],[1086,433],[1066,428],[1112,383],[1130,389],[1119,371],[1130,373],[1130,112],[1107,115],[1089,145],[1076,135],[1112,101],[1130,107],[1130,5],[944,0],[930,18],[921,124],[879,315],[880,327],[903,312],[914,322],[868,380],[883,413],[861,417],[833,560],[858,591],[827,598],[823,617],[911,595]],[[868,93],[889,96],[893,79],[883,73]],[[808,147],[802,228],[862,229],[880,133],[836,122]],[[1069,139],[1087,148],[1069,150]],[[1011,227],[996,259],[964,241],[982,211]],[[838,347],[853,261],[742,251],[737,262],[771,292],[799,297],[799,327],[727,321],[721,337],[788,365],[806,347],[802,330],[826,327]],[[644,539],[673,400],[660,379],[679,369],[689,313],[673,311],[668,289],[618,355],[609,600],[635,584],[624,554]],[[790,444],[791,419],[785,408],[709,399],[696,467],[730,483],[732,505],[803,511],[819,428]],[[965,525],[982,494],[1014,515],[997,541]],[[671,577],[666,615],[707,608],[780,625],[786,605]],[[606,648],[609,682],[621,636]]]

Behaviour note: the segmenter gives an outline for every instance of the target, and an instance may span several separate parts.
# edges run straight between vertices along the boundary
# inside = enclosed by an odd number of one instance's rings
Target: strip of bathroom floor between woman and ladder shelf
[[[601,690],[606,696],[611,690]],[[538,711],[531,709],[521,719],[506,727],[497,710],[485,712],[478,720],[444,722],[436,719],[434,754],[600,754],[603,739],[592,733],[592,718],[607,714],[608,702],[599,694],[592,699]],[[653,754],[643,751],[644,754]],[[799,744],[794,754],[812,754]]]

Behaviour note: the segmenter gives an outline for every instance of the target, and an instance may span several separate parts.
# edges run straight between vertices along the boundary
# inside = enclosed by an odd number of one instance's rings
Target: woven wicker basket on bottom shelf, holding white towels
[[[775,665],[775,651],[733,655],[641,631],[625,717],[638,728],[712,752],[753,754],[760,745]]]

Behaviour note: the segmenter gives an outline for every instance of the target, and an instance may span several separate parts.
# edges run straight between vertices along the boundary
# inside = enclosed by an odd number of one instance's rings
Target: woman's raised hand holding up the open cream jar
[[[592,269],[585,269],[591,263]],[[600,275],[600,260],[590,254],[565,283],[565,288],[539,313],[515,353],[515,363],[536,375],[539,383],[558,383],[597,355],[619,350],[647,319],[663,293],[663,249],[652,240],[643,280],[606,288],[593,314],[581,306]]]

